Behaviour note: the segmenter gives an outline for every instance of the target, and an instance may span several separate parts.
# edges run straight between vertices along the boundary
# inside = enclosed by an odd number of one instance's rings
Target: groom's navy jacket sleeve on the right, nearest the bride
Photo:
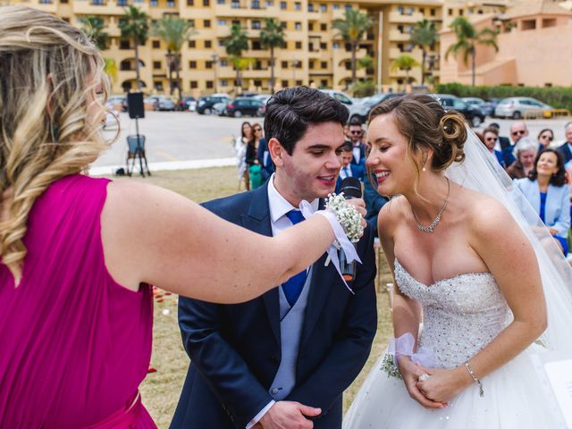
[[[313,374],[297,385],[286,398],[322,408],[323,413],[332,407],[361,371],[369,357],[377,329],[376,268],[371,227],[366,228],[359,245],[363,264],[358,265],[356,280],[352,284],[355,295],[349,299],[337,340]]]

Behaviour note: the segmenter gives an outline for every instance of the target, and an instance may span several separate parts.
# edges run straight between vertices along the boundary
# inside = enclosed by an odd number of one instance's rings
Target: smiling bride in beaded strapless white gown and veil
[[[532,207],[433,97],[375,107],[368,143],[377,191],[401,196],[378,218],[397,340],[344,428],[559,427],[533,356],[572,356],[570,270]]]

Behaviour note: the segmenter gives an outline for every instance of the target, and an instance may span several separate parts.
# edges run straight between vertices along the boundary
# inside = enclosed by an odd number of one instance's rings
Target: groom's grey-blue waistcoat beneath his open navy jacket
[[[274,400],[283,400],[296,384],[296,362],[298,361],[298,349],[300,334],[304,325],[306,314],[307,294],[312,281],[312,269],[307,275],[304,289],[300,292],[299,299],[290,308],[282,287],[278,288],[280,295],[280,341],[282,345],[282,360],[278,372],[268,390]]]

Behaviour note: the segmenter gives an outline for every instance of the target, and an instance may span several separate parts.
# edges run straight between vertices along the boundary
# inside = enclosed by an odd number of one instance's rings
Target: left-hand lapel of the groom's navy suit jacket
[[[250,231],[272,237],[272,225],[270,223],[270,207],[268,205],[268,182],[264,186],[253,191],[252,200],[248,207],[248,213],[242,214],[242,226]],[[257,261],[252,261],[253,265]],[[262,299],[265,302],[268,321],[274,337],[280,344],[280,305],[278,288],[267,291]]]

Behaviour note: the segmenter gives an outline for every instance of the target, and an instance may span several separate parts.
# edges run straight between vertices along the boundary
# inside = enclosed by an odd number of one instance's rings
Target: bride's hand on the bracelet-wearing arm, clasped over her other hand
[[[421,381],[416,380],[416,389],[420,391],[427,400],[446,404],[469,386],[473,380],[468,374],[463,374],[459,369],[439,369],[425,368],[419,366],[422,373],[428,377],[422,377]],[[465,372],[467,373],[467,372]]]

